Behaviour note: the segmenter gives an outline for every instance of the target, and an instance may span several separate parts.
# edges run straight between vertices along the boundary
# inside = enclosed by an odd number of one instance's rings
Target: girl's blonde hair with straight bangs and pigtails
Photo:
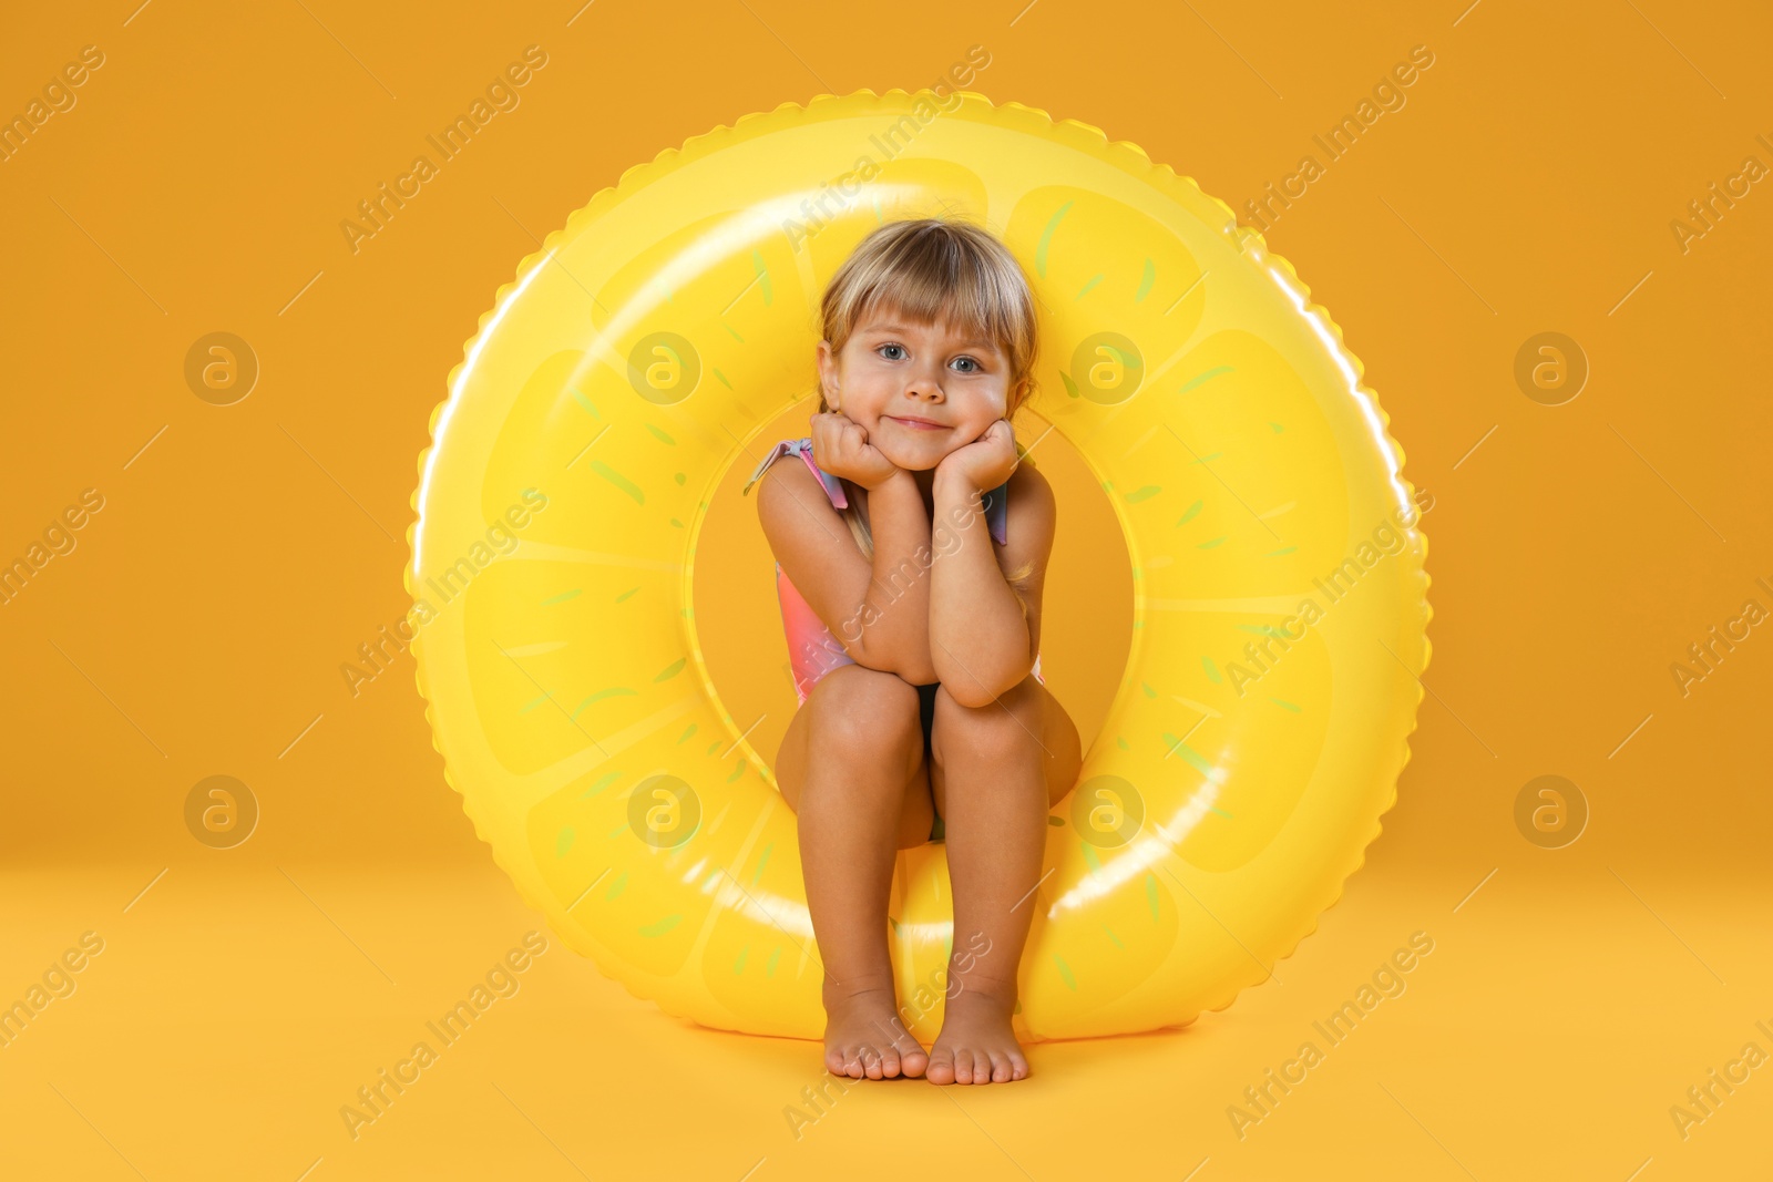
[[[856,326],[888,310],[920,324],[947,323],[959,333],[998,342],[1009,358],[1004,418],[1014,424],[1016,411],[1035,392],[1039,333],[1028,278],[996,236],[970,222],[947,218],[888,222],[874,229],[826,285],[819,305],[821,333],[839,354]],[[830,409],[821,383],[819,413]],[[1016,452],[1021,454],[1019,443]],[[842,510],[844,523],[862,555],[872,562],[874,532],[858,505],[858,486],[842,484],[849,502]],[[1030,562],[1005,576],[1018,603],[1018,585],[1032,572]],[[1021,606],[1027,613],[1027,603]]]

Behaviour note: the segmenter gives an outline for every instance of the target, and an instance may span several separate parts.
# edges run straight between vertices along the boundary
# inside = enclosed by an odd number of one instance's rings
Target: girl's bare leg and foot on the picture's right
[[[1016,973],[1041,906],[1046,815],[1076,785],[1078,728],[1030,673],[984,707],[936,691],[931,787],[947,822],[954,950],[931,1083],[1028,1076],[1011,1033]]]

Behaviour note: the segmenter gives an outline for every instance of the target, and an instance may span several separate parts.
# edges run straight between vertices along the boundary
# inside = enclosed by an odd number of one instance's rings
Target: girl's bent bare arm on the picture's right
[[[996,553],[980,489],[959,473],[938,468],[934,480],[938,528],[952,530],[959,544],[945,544],[929,588],[929,650],[936,675],[961,705],[989,705],[1019,684],[1041,649],[1041,592],[1053,551],[1057,505],[1046,477],[1019,464],[1009,480],[1009,544]],[[1032,564],[1023,595],[1005,579]]]

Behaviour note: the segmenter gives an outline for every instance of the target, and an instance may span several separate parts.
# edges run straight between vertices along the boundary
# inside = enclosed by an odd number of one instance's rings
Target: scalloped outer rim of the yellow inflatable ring
[[[828,108],[832,105],[840,105],[840,106],[855,108],[855,110],[869,110],[869,108],[878,108],[883,101],[892,99],[892,96],[895,96],[895,94],[897,96],[904,96],[908,103],[917,101],[920,96],[931,96],[931,97],[934,97],[934,92],[929,90],[929,89],[904,90],[901,87],[894,87],[894,89],[886,90],[885,94],[876,94],[874,90],[871,90],[867,87],[863,87],[860,90],[853,90],[851,94],[842,94],[842,96],[840,94],[816,94],[805,105],[800,105],[800,103],[780,103],[778,106],[775,106],[773,110],[768,110],[768,112],[750,112],[746,115],[739,115],[739,119],[734,121],[730,126],[729,124],[718,124],[716,128],[713,128],[709,131],[704,131],[702,135],[693,135],[693,136],[690,136],[688,140],[683,142],[683,147],[667,147],[667,149],[661,149],[652,159],[644,161],[644,163],[637,163],[637,165],[631,165],[631,167],[624,168],[622,175],[617,179],[615,184],[599,190],[589,202],[585,202],[583,206],[580,206],[578,209],[574,209],[571,214],[567,214],[566,225],[560,227],[560,229],[557,229],[557,230],[551,230],[548,234],[548,237],[543,239],[541,248],[532,250],[530,253],[523,255],[523,259],[518,262],[516,273],[512,275],[511,282],[502,284],[498,287],[498,291],[493,296],[493,307],[480,314],[480,319],[475,324],[473,335],[468,337],[468,340],[463,344],[463,360],[457,362],[454,367],[450,367],[449,377],[445,379],[447,393],[445,393],[443,400],[440,400],[434,408],[431,408],[431,422],[429,422],[431,441],[418,452],[417,471],[418,471],[420,482],[413,489],[413,494],[408,498],[408,509],[413,510],[413,519],[406,526],[408,562],[406,562],[406,565],[402,569],[402,576],[401,576],[401,585],[404,587],[404,590],[406,590],[408,595],[415,595],[415,583],[417,583],[417,571],[415,571],[417,549],[415,549],[415,546],[417,546],[417,537],[418,537],[418,526],[422,525],[420,509],[418,509],[418,498],[420,498],[420,493],[424,491],[424,475],[426,475],[427,463],[431,459],[431,452],[438,447],[438,424],[441,422],[443,413],[449,409],[450,402],[454,402],[454,399],[459,393],[456,390],[456,381],[457,381],[463,367],[468,363],[468,358],[473,354],[475,346],[480,342],[480,337],[486,333],[488,323],[500,314],[500,310],[504,308],[505,301],[511,298],[511,292],[518,287],[518,284],[523,282],[523,278],[527,275],[530,275],[530,271],[535,266],[539,266],[553,252],[555,245],[560,243],[560,241],[564,241],[566,237],[573,236],[574,230],[578,227],[582,227],[583,223],[599,218],[603,214],[603,211],[606,207],[610,207],[612,204],[615,204],[619,198],[624,198],[633,190],[644,188],[645,183],[654,174],[663,174],[667,167],[670,167],[670,165],[674,165],[677,161],[677,158],[683,158],[683,159],[700,159],[704,156],[709,156],[716,149],[720,149],[722,145],[725,145],[725,142],[730,140],[732,135],[739,128],[743,128],[745,124],[748,124],[748,122],[752,122],[755,119],[771,119],[771,117],[784,115],[785,112],[798,112],[801,115],[808,115],[808,113],[812,113],[816,110]],[[956,90],[954,96],[959,97],[963,103],[982,103],[991,112],[1012,112],[1018,119],[1028,119],[1030,122],[1034,122],[1034,124],[1039,126],[1041,133],[1055,136],[1055,138],[1062,140],[1064,144],[1067,144],[1071,147],[1078,147],[1080,151],[1092,152],[1092,154],[1096,154],[1097,158],[1101,158],[1101,159],[1105,159],[1108,163],[1113,163],[1113,165],[1119,165],[1119,167],[1126,168],[1128,172],[1133,172],[1133,174],[1144,172],[1145,177],[1151,181],[1151,184],[1154,184],[1160,190],[1172,190],[1172,188],[1175,188],[1179,184],[1186,184],[1184,191],[1191,190],[1193,193],[1197,193],[1197,195],[1207,198],[1209,202],[1213,202],[1215,206],[1218,206],[1223,211],[1223,214],[1225,214],[1225,227],[1222,229],[1222,232],[1234,239],[1234,243],[1236,243],[1236,246],[1238,246],[1239,252],[1243,252],[1243,250],[1254,250],[1254,257],[1257,261],[1268,259],[1268,261],[1277,262],[1278,268],[1280,268],[1280,278],[1282,278],[1282,282],[1298,296],[1298,301],[1300,301],[1301,308],[1305,310],[1305,315],[1319,319],[1323,323],[1323,326],[1328,328],[1330,333],[1333,335],[1337,351],[1349,362],[1349,365],[1355,370],[1355,381],[1356,381],[1355,393],[1360,395],[1360,397],[1365,397],[1372,404],[1374,413],[1378,413],[1378,416],[1379,416],[1379,434],[1383,438],[1385,447],[1392,452],[1394,463],[1397,466],[1397,480],[1404,487],[1406,500],[1410,500],[1413,503],[1413,500],[1415,500],[1413,498],[1415,486],[1404,477],[1404,448],[1402,448],[1402,445],[1390,432],[1392,416],[1386,415],[1385,408],[1379,404],[1378,392],[1372,390],[1369,385],[1365,385],[1365,381],[1362,381],[1365,377],[1365,374],[1367,374],[1367,367],[1362,365],[1360,358],[1356,358],[1347,349],[1346,342],[1342,340],[1342,328],[1330,317],[1330,310],[1324,308],[1319,303],[1312,303],[1312,299],[1310,299],[1310,287],[1303,280],[1300,280],[1298,271],[1293,268],[1293,262],[1289,262],[1284,255],[1278,255],[1278,253],[1271,252],[1268,248],[1268,243],[1262,239],[1261,232],[1257,232],[1257,230],[1254,230],[1250,227],[1245,227],[1245,225],[1238,225],[1238,214],[1236,214],[1236,211],[1232,211],[1230,206],[1227,206],[1223,200],[1220,200],[1213,193],[1207,193],[1206,190],[1202,190],[1200,184],[1191,175],[1179,174],[1170,165],[1163,165],[1163,163],[1152,161],[1151,156],[1145,152],[1145,149],[1142,149],[1138,144],[1133,144],[1131,140],[1110,140],[1108,133],[1105,133],[1101,128],[1096,128],[1096,126],[1087,124],[1087,122],[1080,122],[1076,119],[1053,119],[1048,112],[1044,112],[1044,110],[1041,110],[1037,106],[1027,106],[1025,103],[1016,103],[1016,101],[993,103],[988,96],[979,94],[977,90]],[[1347,865],[1346,870],[1342,870],[1340,874],[1335,875],[1332,897],[1323,906],[1319,906],[1319,907],[1316,907],[1312,911],[1308,923],[1301,925],[1301,930],[1296,936],[1293,936],[1293,937],[1289,937],[1285,941],[1287,950],[1275,957],[1275,964],[1277,966],[1282,960],[1291,959],[1300,950],[1300,945],[1303,945],[1308,937],[1312,937],[1312,936],[1317,934],[1317,927],[1323,923],[1323,916],[1332,907],[1335,907],[1337,904],[1342,902],[1342,895],[1346,891],[1347,879],[1351,879],[1362,867],[1367,865],[1367,847],[1371,847],[1372,842],[1376,842],[1379,838],[1379,835],[1385,831],[1383,819],[1397,805],[1397,782],[1402,778],[1404,767],[1410,766],[1410,757],[1411,757],[1411,751],[1410,751],[1410,735],[1413,735],[1417,732],[1417,727],[1418,727],[1418,711],[1420,711],[1420,705],[1422,705],[1422,698],[1425,696],[1425,691],[1424,691],[1424,686],[1422,686],[1422,673],[1427,672],[1429,661],[1433,659],[1433,649],[1434,649],[1433,642],[1427,636],[1427,627],[1429,627],[1429,624],[1434,618],[1434,606],[1427,599],[1427,590],[1429,590],[1429,585],[1433,583],[1433,578],[1427,572],[1429,539],[1427,539],[1427,533],[1424,533],[1422,528],[1420,528],[1420,517],[1418,517],[1418,523],[1415,526],[1411,526],[1411,532],[1417,535],[1417,540],[1420,542],[1420,553],[1422,553],[1422,562],[1415,569],[1415,576],[1422,579],[1422,583],[1420,583],[1420,592],[1422,592],[1420,594],[1420,603],[1422,603],[1422,668],[1418,668],[1418,670],[1413,672],[1413,679],[1417,682],[1417,695],[1415,695],[1415,700],[1411,702],[1411,707],[1410,707],[1410,727],[1408,727],[1408,730],[1404,730],[1404,735],[1402,735],[1402,741],[1401,741],[1401,751],[1397,753],[1399,755],[1397,767],[1395,767],[1394,773],[1386,774],[1385,806],[1379,808],[1379,812],[1374,815],[1372,831],[1365,836],[1365,840],[1355,851],[1353,863]],[[413,649],[413,666],[415,666],[413,680],[415,680],[415,684],[418,688],[418,696],[426,704],[426,727],[431,730],[431,750],[436,751],[438,757],[443,760],[443,782],[456,792],[457,797],[461,797],[463,813],[468,817],[470,824],[473,824],[473,835],[491,851],[491,854],[493,854],[493,865],[496,865],[500,868],[500,872],[504,872],[505,877],[512,883],[512,886],[518,890],[518,897],[523,898],[523,902],[527,906],[534,907],[535,911],[539,911],[543,914],[543,918],[546,920],[548,914],[550,914],[548,906],[543,900],[534,898],[530,895],[530,891],[521,884],[521,881],[518,879],[518,875],[512,874],[511,868],[504,863],[504,859],[498,854],[498,849],[491,842],[488,842],[486,833],[480,828],[480,819],[475,817],[473,810],[468,806],[468,796],[463,792],[461,785],[456,783],[454,769],[450,767],[450,762],[443,755],[443,748],[438,743],[436,718],[433,714],[434,704],[431,702],[429,688],[426,684],[426,666],[424,666],[424,661],[418,656],[420,650],[422,650],[420,649],[422,642],[424,642],[424,636],[420,634],[420,636],[417,636],[413,640],[413,645],[411,645],[411,649]],[[566,941],[566,945],[569,948],[573,948],[580,955],[590,959],[592,964],[598,966],[599,973],[603,973],[605,976],[610,976],[610,978],[617,980],[622,985],[622,989],[628,991],[628,994],[631,998],[637,998],[640,1001],[651,1001],[651,1003],[658,1005],[658,998],[654,994],[651,994],[651,992],[637,989],[635,984],[628,978],[626,973],[619,973],[619,971],[612,973],[608,968],[605,968],[605,960],[608,960],[610,964],[621,964],[621,957],[598,957],[592,952],[587,952],[585,948],[578,946],[578,943],[573,937],[569,937],[564,932],[560,932],[560,929],[555,927],[551,921],[550,921],[550,929],[555,932],[555,936],[560,936],[560,939]],[[1273,969],[1269,971],[1269,976],[1273,976]],[[1259,985],[1266,984],[1269,978],[1264,976],[1262,980],[1254,982],[1250,985],[1232,987],[1232,989],[1229,989],[1229,992],[1223,998],[1216,999],[1216,1003],[1206,1003],[1199,1010],[1195,1010],[1195,1014],[1188,1015],[1186,1019],[1177,1021],[1177,1023],[1168,1023],[1165,1026],[1156,1026],[1156,1028],[1152,1028],[1152,1031],[1156,1031],[1156,1030],[1181,1030],[1184,1026],[1193,1024],[1202,1014],[1220,1014],[1220,1012],[1230,1008],[1230,1005],[1245,991],[1257,989]],[[660,1008],[663,1008],[663,1007],[660,1007]],[[695,1021],[695,1019],[688,1019],[688,1021]],[[700,1024],[700,1023],[697,1023],[697,1024]],[[1152,1033],[1152,1031],[1145,1031],[1145,1033]],[[739,1031],[739,1033],[746,1033],[746,1031]],[[1055,1042],[1055,1038],[1048,1038],[1048,1037],[1041,1037],[1041,1035],[1030,1035],[1028,1042]]]

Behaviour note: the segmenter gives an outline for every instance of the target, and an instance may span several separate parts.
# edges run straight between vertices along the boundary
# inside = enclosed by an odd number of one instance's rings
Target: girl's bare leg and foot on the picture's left
[[[886,904],[899,849],[933,819],[917,689],[895,673],[824,673],[789,723],[777,783],[800,819],[807,909],[824,964],[824,1063],[833,1076],[922,1076],[899,1019]]]

